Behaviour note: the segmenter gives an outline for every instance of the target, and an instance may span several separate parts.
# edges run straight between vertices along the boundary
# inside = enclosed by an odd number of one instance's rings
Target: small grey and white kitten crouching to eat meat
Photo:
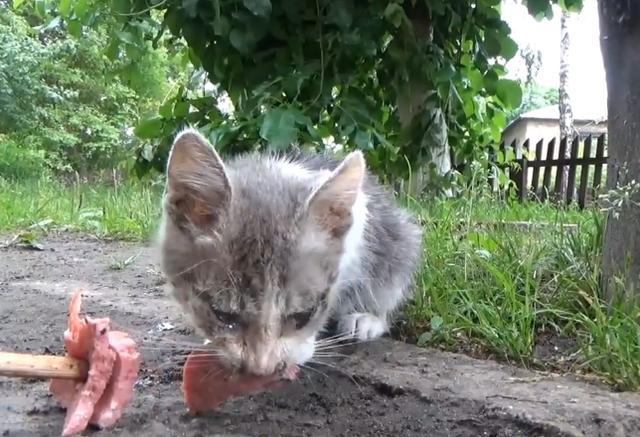
[[[421,229],[362,153],[248,154],[224,163],[195,130],[167,168],[162,266],[222,362],[258,375],[303,364],[330,320],[359,340],[388,330]]]

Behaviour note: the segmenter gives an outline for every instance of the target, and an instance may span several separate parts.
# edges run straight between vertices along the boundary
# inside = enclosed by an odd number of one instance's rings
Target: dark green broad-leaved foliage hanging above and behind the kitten
[[[37,3],[37,2],[36,2]],[[532,14],[550,0],[528,0]],[[579,0],[560,0],[575,8]],[[138,169],[161,169],[169,143],[196,125],[224,153],[358,148],[381,175],[405,176],[450,145],[458,160],[496,146],[505,109],[522,101],[505,77],[515,42],[500,0],[58,0],[81,34],[104,20],[111,55],[137,59],[151,41],[183,46],[215,87],[179,87],[136,129]],[[135,65],[135,64],[132,64]],[[132,80],[140,77],[135,68]],[[233,112],[220,110],[228,96]],[[400,113],[408,114],[400,120]]]

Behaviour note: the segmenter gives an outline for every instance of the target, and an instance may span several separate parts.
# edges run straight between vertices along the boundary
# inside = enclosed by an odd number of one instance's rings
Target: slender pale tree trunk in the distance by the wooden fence
[[[567,138],[567,148],[565,156],[560,158],[571,157],[571,138],[574,136],[573,129],[573,112],[571,111],[571,99],[569,98],[569,48],[571,41],[569,39],[569,13],[562,11],[560,16],[560,83],[558,86],[559,103],[558,109],[560,113],[560,139]],[[567,180],[569,179],[569,167],[562,169],[562,187],[563,196],[571,196],[573,193],[567,193]]]

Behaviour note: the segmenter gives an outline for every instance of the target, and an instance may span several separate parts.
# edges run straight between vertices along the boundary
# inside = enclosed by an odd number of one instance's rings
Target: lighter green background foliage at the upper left
[[[129,61],[105,56],[105,25],[69,37],[70,23],[30,6],[14,13],[0,4],[3,154],[36,151],[55,170],[82,174],[130,159],[134,138],[127,128],[169,92],[166,55],[142,53],[136,68],[146,80],[131,81],[123,74]]]

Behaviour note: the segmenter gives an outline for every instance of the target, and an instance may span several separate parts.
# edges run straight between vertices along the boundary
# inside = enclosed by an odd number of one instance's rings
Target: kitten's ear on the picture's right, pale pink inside
[[[334,238],[343,237],[351,227],[351,210],[362,188],[364,174],[362,152],[352,152],[309,198],[309,217]]]

